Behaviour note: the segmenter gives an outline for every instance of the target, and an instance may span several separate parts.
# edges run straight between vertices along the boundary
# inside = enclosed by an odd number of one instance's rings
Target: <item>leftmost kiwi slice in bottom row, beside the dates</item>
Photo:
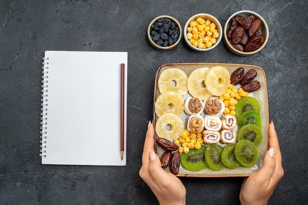
[[[206,146],[202,145],[199,150],[190,149],[188,153],[181,154],[181,163],[185,169],[199,171],[208,167],[204,155],[205,148]]]

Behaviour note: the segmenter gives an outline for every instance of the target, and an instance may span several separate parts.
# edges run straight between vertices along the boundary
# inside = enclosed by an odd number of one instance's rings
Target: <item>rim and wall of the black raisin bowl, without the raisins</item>
[[[171,46],[159,46],[157,45],[154,41],[153,41],[153,35],[152,35],[152,25],[158,20],[158,19],[162,19],[162,18],[167,18],[170,19],[172,22],[175,23],[175,26],[177,26],[179,28],[179,37],[178,40],[173,43]],[[175,18],[173,18],[172,16],[167,16],[167,15],[163,15],[163,16],[158,16],[155,19],[153,19],[153,21],[150,23],[150,25],[148,26],[148,39],[150,41],[150,43],[152,44],[152,46],[154,46],[156,49],[162,50],[162,51],[166,51],[166,50],[170,50],[173,49],[174,47],[176,47],[179,42],[181,41],[182,38],[182,27],[180,25],[180,23],[178,22],[178,20],[176,20]]]

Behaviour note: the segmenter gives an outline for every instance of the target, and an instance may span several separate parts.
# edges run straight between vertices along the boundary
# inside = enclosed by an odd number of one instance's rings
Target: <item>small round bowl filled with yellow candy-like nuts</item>
[[[183,31],[187,45],[195,51],[210,51],[220,42],[222,27],[219,21],[206,13],[188,19]]]

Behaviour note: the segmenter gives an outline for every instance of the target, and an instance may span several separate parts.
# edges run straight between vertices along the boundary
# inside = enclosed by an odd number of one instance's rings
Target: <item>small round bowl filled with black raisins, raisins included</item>
[[[159,50],[170,50],[178,45],[182,37],[180,23],[171,16],[158,16],[148,27],[150,43]]]

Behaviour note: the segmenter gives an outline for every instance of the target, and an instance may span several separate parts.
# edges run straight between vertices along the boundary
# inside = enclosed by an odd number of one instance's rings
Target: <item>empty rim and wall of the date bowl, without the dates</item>
[[[255,51],[251,51],[251,52],[245,52],[245,51],[239,51],[236,48],[234,48],[230,43],[229,43],[229,39],[227,37],[227,30],[229,28],[230,25],[230,21],[232,18],[234,18],[235,16],[244,16],[244,17],[248,17],[254,15],[257,19],[260,19],[262,21],[262,25],[260,26],[262,31],[263,31],[263,36],[264,36],[264,43],[262,44],[262,46],[260,48],[258,48]],[[227,47],[227,49],[229,51],[231,51],[232,53],[239,55],[239,56],[248,56],[248,55],[252,55],[256,52],[261,51],[265,44],[267,43],[269,39],[269,28],[265,22],[265,20],[257,13],[253,12],[253,11],[248,11],[248,10],[243,10],[243,11],[238,11],[235,12],[234,14],[232,14],[229,19],[226,21],[224,28],[223,28],[223,43],[224,45]]]

